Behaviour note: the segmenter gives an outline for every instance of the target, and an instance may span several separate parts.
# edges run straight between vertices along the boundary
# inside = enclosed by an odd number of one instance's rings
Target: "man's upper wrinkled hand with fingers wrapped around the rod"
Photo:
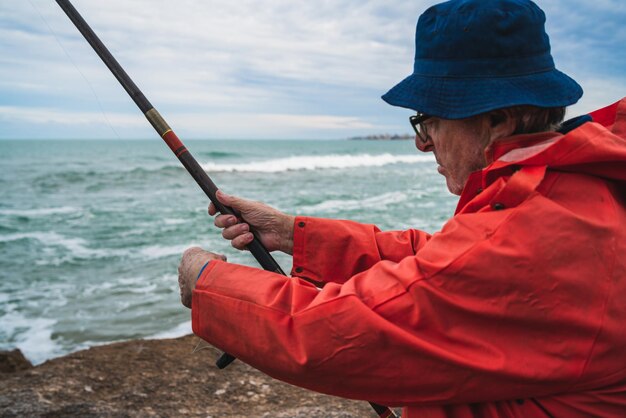
[[[294,216],[287,215],[264,203],[230,196],[218,190],[217,199],[240,214],[240,219],[233,215],[217,215],[215,226],[222,228],[222,236],[231,241],[238,250],[244,250],[252,242],[250,226],[257,232],[261,243],[268,251],[293,253]],[[215,205],[209,205],[209,215],[217,213]]]

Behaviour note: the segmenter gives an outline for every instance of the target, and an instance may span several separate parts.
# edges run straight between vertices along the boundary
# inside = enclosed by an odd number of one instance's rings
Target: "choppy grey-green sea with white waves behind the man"
[[[225,192],[297,215],[436,232],[457,198],[412,141],[195,140]],[[258,266],[155,140],[0,141],[0,350],[34,364],[191,332],[177,266],[190,246]],[[276,254],[283,270],[291,258]]]

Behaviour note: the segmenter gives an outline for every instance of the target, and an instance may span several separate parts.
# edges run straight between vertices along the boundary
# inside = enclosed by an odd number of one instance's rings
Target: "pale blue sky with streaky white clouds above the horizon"
[[[409,133],[380,96],[412,71],[423,0],[73,0],[181,139]],[[568,116],[626,96],[626,2],[538,0]],[[0,0],[0,139],[156,133],[53,0]]]

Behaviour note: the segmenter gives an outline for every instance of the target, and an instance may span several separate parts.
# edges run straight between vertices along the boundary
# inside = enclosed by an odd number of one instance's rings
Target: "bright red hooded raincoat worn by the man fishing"
[[[432,236],[299,217],[292,274],[211,262],[193,330],[403,418],[626,416],[626,99],[498,142]]]

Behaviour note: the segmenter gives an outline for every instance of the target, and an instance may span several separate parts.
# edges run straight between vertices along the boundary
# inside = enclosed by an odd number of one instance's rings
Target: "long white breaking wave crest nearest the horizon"
[[[209,172],[280,173],[296,170],[345,169],[357,167],[382,167],[388,164],[415,164],[434,161],[431,155],[301,155],[244,164],[206,163],[202,168]]]

